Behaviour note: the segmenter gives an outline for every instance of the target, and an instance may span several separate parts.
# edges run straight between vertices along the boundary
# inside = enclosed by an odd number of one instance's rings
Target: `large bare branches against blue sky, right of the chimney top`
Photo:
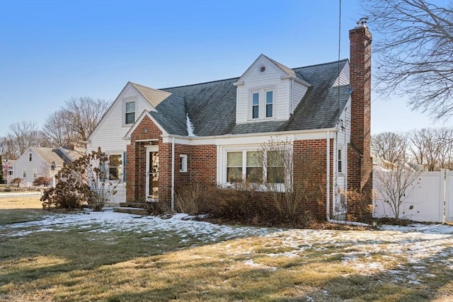
[[[453,115],[453,2],[365,0],[377,33],[378,91],[409,95],[413,110],[434,118]]]

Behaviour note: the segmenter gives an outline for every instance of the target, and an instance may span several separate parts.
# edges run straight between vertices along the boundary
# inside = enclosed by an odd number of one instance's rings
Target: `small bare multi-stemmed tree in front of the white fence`
[[[384,204],[377,211],[383,216],[393,216],[396,220],[410,218],[413,205],[409,205],[406,199],[413,193],[416,185],[420,183],[420,172],[415,170],[404,170],[398,166],[393,170],[374,170],[376,181],[377,200]],[[385,204],[390,208],[391,213],[386,213]]]

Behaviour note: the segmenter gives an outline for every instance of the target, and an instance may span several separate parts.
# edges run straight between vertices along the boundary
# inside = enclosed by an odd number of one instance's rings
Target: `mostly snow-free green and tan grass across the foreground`
[[[1,203],[1,199],[0,199]],[[14,211],[11,202],[7,211]],[[4,203],[6,204],[6,203]],[[30,207],[28,204],[27,207]],[[20,209],[18,209],[20,210]],[[0,206],[1,214],[6,211]],[[42,210],[35,208],[36,219]],[[31,219],[18,211],[9,223]],[[21,214],[25,215],[21,218]],[[45,212],[45,214],[49,214]],[[98,226],[96,226],[97,228]],[[384,270],[361,274],[330,243],[303,252],[279,238],[237,238],[205,244],[172,232],[93,232],[66,226],[28,236],[0,236],[0,301],[449,301],[449,262],[433,262],[418,284],[389,269],[416,274],[403,258],[371,255]],[[25,230],[27,228],[24,228]],[[183,234],[184,235],[184,234]],[[280,253],[282,255],[274,255]]]

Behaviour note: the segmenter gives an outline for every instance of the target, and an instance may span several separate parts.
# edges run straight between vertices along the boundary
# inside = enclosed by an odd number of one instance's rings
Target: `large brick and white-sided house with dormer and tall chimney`
[[[350,30],[350,61],[290,69],[261,54],[239,78],[154,89],[127,83],[88,137],[122,165],[119,202],[171,202],[184,182],[249,180],[262,144],[288,140],[294,158],[309,152],[326,178],[318,217],[344,219],[339,192],[360,190],[371,204],[371,41],[365,23]],[[303,55],[303,54],[301,54]],[[278,167],[277,167],[278,168]],[[294,183],[304,163],[294,159]],[[368,195],[367,195],[368,196]]]

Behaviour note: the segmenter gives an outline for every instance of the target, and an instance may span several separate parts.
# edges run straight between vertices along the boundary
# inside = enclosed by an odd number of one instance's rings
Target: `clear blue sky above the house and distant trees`
[[[363,13],[341,2],[343,59]],[[291,68],[336,61],[338,17],[338,0],[0,0],[0,136],[14,122],[42,125],[71,97],[113,101],[127,81],[228,79],[261,53]],[[442,125],[373,95],[372,134]]]

